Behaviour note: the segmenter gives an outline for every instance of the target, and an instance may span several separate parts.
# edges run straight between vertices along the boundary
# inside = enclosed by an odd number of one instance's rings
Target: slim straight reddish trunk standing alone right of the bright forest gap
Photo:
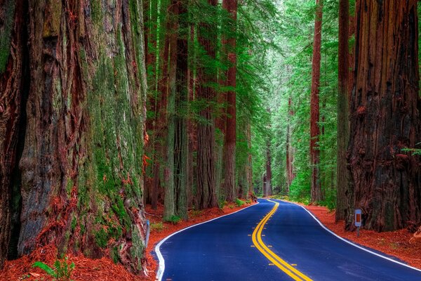
[[[323,5],[316,0],[316,20],[314,22],[313,61],[312,61],[312,93],[310,101],[310,166],[312,169],[312,202],[323,200],[319,178],[319,84],[320,84],[320,48],[321,48],[321,17]]]

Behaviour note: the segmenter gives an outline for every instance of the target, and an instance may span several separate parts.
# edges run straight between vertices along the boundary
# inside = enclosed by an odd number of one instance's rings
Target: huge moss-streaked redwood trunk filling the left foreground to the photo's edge
[[[145,261],[141,1],[3,1],[0,9],[13,30],[13,44],[1,45],[10,55],[1,71],[1,212],[9,216],[1,223],[0,256],[15,207],[7,202],[15,196],[10,171],[22,142],[13,178],[22,195],[15,254],[54,243],[59,253],[109,253],[139,272]]]

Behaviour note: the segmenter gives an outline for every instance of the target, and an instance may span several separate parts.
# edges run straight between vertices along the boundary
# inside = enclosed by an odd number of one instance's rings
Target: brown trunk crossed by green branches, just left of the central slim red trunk
[[[218,1],[208,0],[208,3],[216,6]],[[206,52],[205,56],[211,60],[215,59],[215,30],[215,25],[209,22],[201,22],[198,30],[199,44]],[[197,72],[197,97],[204,107],[199,113],[202,120],[197,125],[197,196],[199,209],[204,209],[218,206],[215,186],[215,120],[210,103],[215,99],[215,89],[210,86],[215,83],[215,70],[209,63],[201,62]]]

